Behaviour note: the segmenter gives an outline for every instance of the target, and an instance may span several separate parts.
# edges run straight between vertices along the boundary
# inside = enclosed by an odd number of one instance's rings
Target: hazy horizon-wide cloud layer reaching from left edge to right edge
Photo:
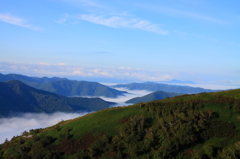
[[[69,66],[65,63],[49,64],[41,62],[39,64],[24,64],[24,63],[7,63],[0,62],[0,73],[23,74],[27,76],[37,77],[66,77],[74,80],[88,80],[96,82],[108,83],[130,83],[130,82],[146,82],[146,81],[169,81],[172,79],[191,80],[208,89],[232,89],[239,88],[239,80],[225,80],[217,78],[214,75],[208,75],[207,81],[201,80],[205,74],[185,73],[185,72],[165,72],[162,70],[143,70],[141,68],[119,67],[119,68],[97,68],[97,67],[81,67]],[[211,79],[213,78],[213,79]],[[200,79],[200,80],[199,80]],[[201,85],[204,84],[204,85]],[[210,85],[212,84],[212,85]],[[214,85],[214,86],[213,86]]]

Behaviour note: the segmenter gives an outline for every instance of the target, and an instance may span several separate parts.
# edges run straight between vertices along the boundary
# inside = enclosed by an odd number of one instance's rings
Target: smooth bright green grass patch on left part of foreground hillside
[[[108,135],[114,136],[118,134],[123,119],[140,114],[146,117],[151,116],[149,112],[145,111],[144,108],[140,108],[139,105],[104,109],[63,124],[59,132],[56,132],[52,127],[52,130],[46,131],[42,135],[58,138],[61,133],[69,129],[73,139],[78,139],[88,132],[94,133],[97,131],[104,131]]]

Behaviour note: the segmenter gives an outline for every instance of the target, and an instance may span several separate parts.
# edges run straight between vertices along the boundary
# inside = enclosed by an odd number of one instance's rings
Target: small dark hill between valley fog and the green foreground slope
[[[179,95],[182,95],[182,94],[180,94],[180,93],[166,93],[166,92],[163,92],[163,91],[156,91],[156,92],[152,92],[152,93],[147,94],[147,95],[142,96],[142,97],[132,98],[132,99],[126,101],[126,103],[136,104],[136,103],[166,99],[168,97],[172,98],[172,97],[179,96]]]

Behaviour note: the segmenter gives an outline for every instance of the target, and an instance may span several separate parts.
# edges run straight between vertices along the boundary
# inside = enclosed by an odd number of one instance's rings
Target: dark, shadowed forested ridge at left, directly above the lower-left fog
[[[0,117],[26,112],[97,111],[115,104],[101,98],[65,97],[17,81],[0,82]]]

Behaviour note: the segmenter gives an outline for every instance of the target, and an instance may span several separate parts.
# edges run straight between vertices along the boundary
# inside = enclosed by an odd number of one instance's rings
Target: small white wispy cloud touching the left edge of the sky
[[[23,19],[23,18],[19,18],[16,16],[12,16],[10,14],[0,14],[0,21],[6,22],[6,23],[10,23],[13,25],[17,25],[17,26],[21,26],[24,28],[29,28],[32,30],[37,30],[40,31],[41,28],[33,26],[32,24],[29,24],[27,22],[27,20]]]

